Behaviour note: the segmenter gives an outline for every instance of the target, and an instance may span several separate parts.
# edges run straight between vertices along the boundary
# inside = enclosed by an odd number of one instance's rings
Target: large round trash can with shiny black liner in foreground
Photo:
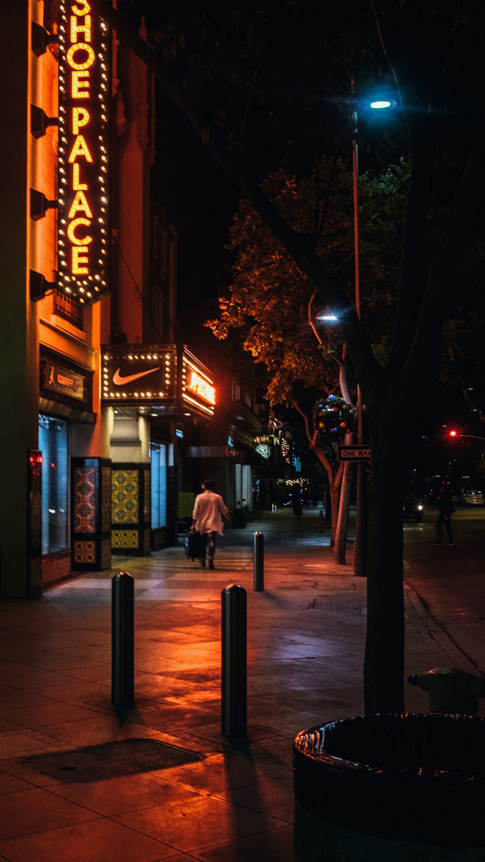
[[[293,745],[294,862],[485,859],[485,721],[360,715]]]

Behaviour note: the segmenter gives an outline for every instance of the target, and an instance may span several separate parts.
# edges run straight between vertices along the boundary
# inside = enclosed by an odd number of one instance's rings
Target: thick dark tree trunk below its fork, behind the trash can
[[[405,399],[386,391],[370,411],[371,486],[367,559],[365,712],[404,709],[402,494]]]

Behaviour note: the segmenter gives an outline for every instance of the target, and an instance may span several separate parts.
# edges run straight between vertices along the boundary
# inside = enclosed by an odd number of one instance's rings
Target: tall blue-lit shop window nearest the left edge
[[[42,553],[69,547],[69,481],[67,425],[52,416],[39,416],[42,452]]]

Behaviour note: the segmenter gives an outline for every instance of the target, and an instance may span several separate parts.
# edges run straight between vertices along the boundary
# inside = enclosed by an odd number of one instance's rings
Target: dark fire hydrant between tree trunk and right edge
[[[476,715],[478,698],[485,696],[485,678],[459,667],[434,667],[426,673],[413,673],[408,683],[429,691],[429,711]]]

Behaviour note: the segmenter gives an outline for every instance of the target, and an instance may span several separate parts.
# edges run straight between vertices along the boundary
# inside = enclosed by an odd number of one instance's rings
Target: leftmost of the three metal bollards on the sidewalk
[[[111,579],[111,702],[132,706],[134,702],[134,580],[128,572]]]

